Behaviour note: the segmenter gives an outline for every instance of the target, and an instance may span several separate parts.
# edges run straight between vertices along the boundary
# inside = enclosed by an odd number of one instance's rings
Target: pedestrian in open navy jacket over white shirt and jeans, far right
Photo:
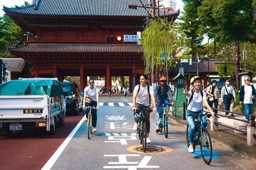
[[[246,120],[249,120],[250,114],[254,114],[254,96],[255,96],[255,89],[254,86],[250,84],[251,78],[245,77],[244,78],[244,85],[240,89],[239,93],[239,101],[240,104],[244,105],[244,115],[246,115]]]

